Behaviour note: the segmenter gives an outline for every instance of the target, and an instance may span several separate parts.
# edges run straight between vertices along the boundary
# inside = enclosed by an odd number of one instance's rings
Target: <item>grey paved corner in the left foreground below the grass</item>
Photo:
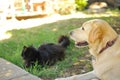
[[[41,80],[18,66],[0,58],[0,80]]]

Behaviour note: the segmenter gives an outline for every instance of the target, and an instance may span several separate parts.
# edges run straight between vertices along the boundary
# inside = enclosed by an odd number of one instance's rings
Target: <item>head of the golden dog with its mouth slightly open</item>
[[[70,32],[70,37],[75,41],[76,46],[86,45],[100,45],[113,40],[117,33],[104,20],[93,19],[83,23],[80,28],[74,29]]]

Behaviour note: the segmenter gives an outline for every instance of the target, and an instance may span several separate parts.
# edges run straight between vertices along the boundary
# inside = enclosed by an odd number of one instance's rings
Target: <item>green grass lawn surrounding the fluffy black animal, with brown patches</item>
[[[20,66],[30,73],[39,76],[45,80],[52,80],[56,77],[70,76],[79,73],[85,73],[92,70],[90,65],[90,55],[84,54],[88,48],[78,49],[71,40],[70,46],[66,49],[66,56],[63,61],[57,62],[54,66],[45,66],[41,68],[35,65],[33,68],[24,68],[21,58],[23,46],[33,45],[36,48],[43,43],[57,43],[60,35],[69,36],[72,29],[78,28],[83,22],[94,18],[73,18],[60,20],[54,23],[36,26],[30,29],[11,30],[12,37],[0,41],[0,57]],[[110,23],[119,33],[119,17],[100,17]]]

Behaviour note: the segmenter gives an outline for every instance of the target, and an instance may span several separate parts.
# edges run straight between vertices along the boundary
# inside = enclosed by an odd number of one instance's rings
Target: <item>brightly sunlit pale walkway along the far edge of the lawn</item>
[[[83,13],[76,14],[77,16],[86,16]],[[7,21],[0,21],[0,41],[4,39],[10,38],[12,35],[9,33],[6,33],[9,30],[13,29],[26,29],[31,27],[40,26],[47,23],[53,23],[59,20],[65,20],[70,18],[80,18],[76,15],[65,15],[61,16],[59,14],[55,14],[52,16],[48,16],[45,18],[34,18],[34,19],[27,19],[27,20],[7,20]]]

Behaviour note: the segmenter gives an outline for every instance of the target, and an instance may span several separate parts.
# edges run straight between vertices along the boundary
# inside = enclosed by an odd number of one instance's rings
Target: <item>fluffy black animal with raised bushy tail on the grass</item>
[[[24,66],[30,67],[38,62],[41,66],[53,65],[59,60],[63,60],[65,57],[65,49],[70,44],[70,40],[67,36],[62,35],[58,39],[58,44],[47,43],[39,46],[38,49],[33,46],[23,47],[22,58],[24,59]]]

